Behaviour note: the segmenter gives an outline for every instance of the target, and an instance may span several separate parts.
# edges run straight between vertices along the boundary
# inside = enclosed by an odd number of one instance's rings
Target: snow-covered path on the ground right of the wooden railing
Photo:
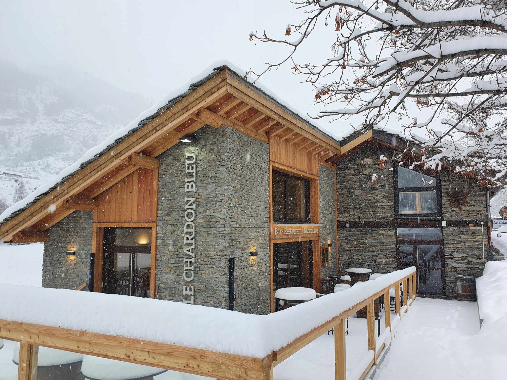
[[[479,330],[476,302],[417,298],[375,380],[505,378],[507,324]]]

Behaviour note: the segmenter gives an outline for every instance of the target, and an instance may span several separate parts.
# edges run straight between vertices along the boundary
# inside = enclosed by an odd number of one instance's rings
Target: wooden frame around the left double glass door
[[[150,298],[156,297],[156,267],[157,267],[157,222],[94,222],[92,237],[92,253],[95,255],[93,268],[93,291],[102,292],[102,257],[103,257],[103,240],[104,228],[151,228],[152,229],[152,245],[151,245],[151,264],[150,264]]]

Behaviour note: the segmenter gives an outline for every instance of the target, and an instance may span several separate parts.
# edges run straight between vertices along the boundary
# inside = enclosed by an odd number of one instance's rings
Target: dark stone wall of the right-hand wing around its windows
[[[355,155],[337,164],[337,205],[339,221],[388,221],[395,219],[393,173],[380,169],[379,157],[383,154],[392,157],[388,148],[366,147]],[[378,184],[372,183],[376,173]],[[470,178],[457,176],[443,170],[442,182],[442,220],[445,221],[484,221],[486,222],[485,189],[477,186]],[[453,207],[445,194],[451,189],[470,192],[467,203],[459,208]],[[414,220],[413,218],[407,218]],[[395,220],[407,220],[395,219]],[[466,223],[465,223],[466,224]],[[445,259],[445,288],[448,296],[455,296],[455,277],[457,274],[479,277],[483,270],[483,237],[481,227],[443,227]],[[386,273],[397,269],[396,229],[345,227],[338,229],[338,250],[341,268],[364,267],[373,273]],[[484,224],[484,248],[487,252],[487,231]]]

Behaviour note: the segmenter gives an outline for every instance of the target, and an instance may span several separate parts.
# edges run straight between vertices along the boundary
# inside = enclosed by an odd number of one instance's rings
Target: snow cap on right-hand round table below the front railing
[[[153,380],[167,369],[85,355],[81,372],[87,380]]]

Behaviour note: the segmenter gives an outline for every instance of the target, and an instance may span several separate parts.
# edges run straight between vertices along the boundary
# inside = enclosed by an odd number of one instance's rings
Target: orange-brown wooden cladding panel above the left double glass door
[[[157,220],[158,172],[139,168],[97,198],[96,222]]]

